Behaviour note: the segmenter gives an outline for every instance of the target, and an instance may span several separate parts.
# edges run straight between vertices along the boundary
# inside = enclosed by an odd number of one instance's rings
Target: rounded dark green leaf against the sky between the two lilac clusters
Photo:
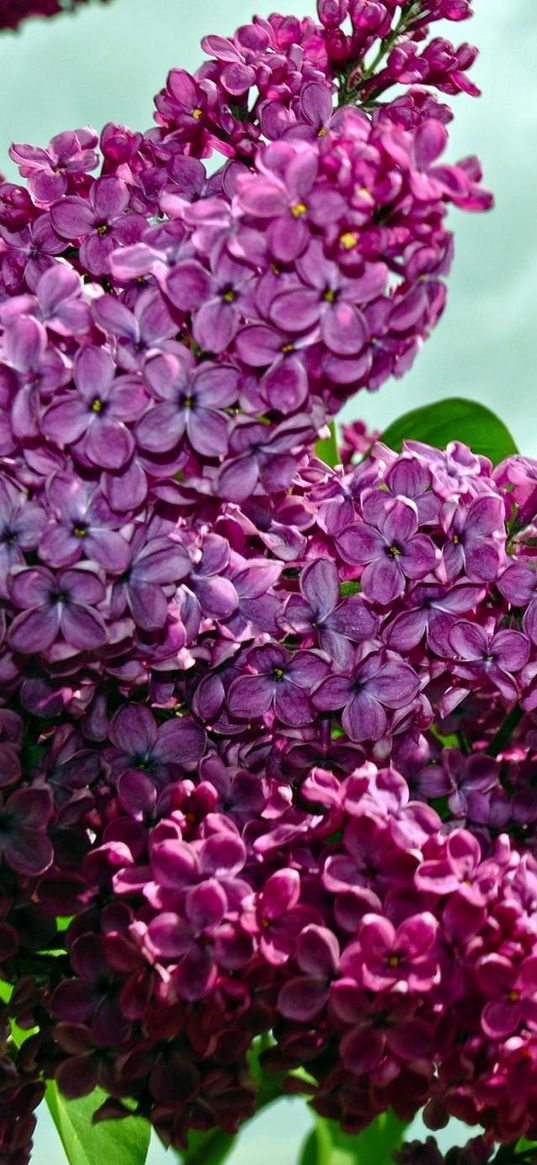
[[[437,449],[444,449],[451,440],[460,440],[469,445],[474,453],[489,457],[495,465],[518,452],[503,421],[485,404],[459,396],[405,412],[388,425],[381,439],[397,451],[404,439],[423,440]]]

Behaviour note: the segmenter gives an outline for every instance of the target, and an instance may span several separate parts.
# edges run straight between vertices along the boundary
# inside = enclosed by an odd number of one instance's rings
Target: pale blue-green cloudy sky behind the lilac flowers
[[[232,33],[250,19],[254,2],[113,0],[0,34],[0,171],[16,177],[12,141],[44,146],[61,129],[99,129],[107,121],[148,128],[168,70],[196,68],[200,37]],[[257,3],[267,15],[270,6]],[[313,15],[315,3],[281,0],[277,9]],[[522,452],[537,457],[537,0],[475,0],[475,9],[471,23],[451,26],[448,35],[479,44],[473,77],[483,96],[455,99],[450,156],[480,155],[496,207],[452,214],[457,254],[440,325],[403,381],[360,394],[346,416],[382,429],[432,400],[472,397],[502,416]],[[228,1163],[296,1165],[309,1125],[305,1106],[284,1101],[252,1122]],[[454,1139],[457,1130],[443,1137],[444,1144]],[[172,1159],[151,1145],[148,1165]],[[33,1165],[63,1162],[44,1113]]]

